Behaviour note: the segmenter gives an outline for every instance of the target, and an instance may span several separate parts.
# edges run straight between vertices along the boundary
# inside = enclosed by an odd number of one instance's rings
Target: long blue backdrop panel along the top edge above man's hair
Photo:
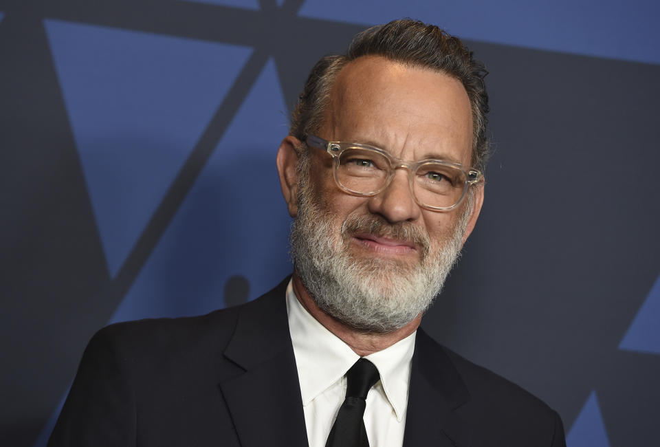
[[[307,0],[300,15],[369,25],[412,17],[464,39],[660,63],[657,0]]]

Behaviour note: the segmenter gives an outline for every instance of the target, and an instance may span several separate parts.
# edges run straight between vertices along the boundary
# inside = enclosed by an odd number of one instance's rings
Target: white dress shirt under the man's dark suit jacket
[[[310,447],[325,447],[344,395],[344,374],[360,356],[311,316],[287,287],[289,331],[294,345]],[[415,335],[366,356],[380,373],[366,397],[364,426],[370,447],[401,447],[404,441],[410,360]]]

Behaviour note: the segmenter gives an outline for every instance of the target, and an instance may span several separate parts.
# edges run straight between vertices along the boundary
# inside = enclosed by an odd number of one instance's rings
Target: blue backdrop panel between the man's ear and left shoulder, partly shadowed
[[[291,219],[275,168],[287,111],[269,61],[111,323],[204,314],[225,305],[232,276],[249,298],[292,272]]]

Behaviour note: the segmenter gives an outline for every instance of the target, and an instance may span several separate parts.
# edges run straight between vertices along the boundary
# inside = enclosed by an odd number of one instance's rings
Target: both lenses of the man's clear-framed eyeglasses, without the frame
[[[390,160],[376,151],[351,148],[343,151],[337,166],[337,180],[354,193],[370,194],[382,188],[391,175]],[[418,166],[412,192],[420,204],[450,208],[463,196],[467,176],[455,167],[434,162]]]

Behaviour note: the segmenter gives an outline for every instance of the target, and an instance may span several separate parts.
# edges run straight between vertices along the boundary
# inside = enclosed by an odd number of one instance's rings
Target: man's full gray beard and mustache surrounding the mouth
[[[303,177],[305,177],[303,175]],[[298,214],[289,236],[296,272],[318,307],[364,332],[388,333],[426,312],[459,259],[470,204],[452,235],[432,243],[412,223],[391,224],[377,215],[349,216],[336,233],[329,212],[316,206],[311,186],[299,185]],[[362,259],[349,253],[356,232],[414,241],[423,248],[419,263]]]

